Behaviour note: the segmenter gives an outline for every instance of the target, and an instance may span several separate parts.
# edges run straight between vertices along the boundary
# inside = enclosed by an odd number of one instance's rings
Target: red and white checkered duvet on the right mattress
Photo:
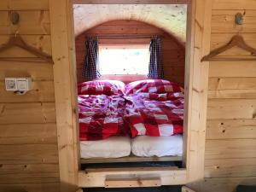
[[[137,93],[125,96],[125,123],[131,137],[172,136],[183,132],[183,93]]]

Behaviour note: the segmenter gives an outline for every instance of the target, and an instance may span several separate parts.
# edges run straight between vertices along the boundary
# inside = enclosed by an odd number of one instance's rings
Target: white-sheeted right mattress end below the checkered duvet
[[[131,139],[131,153],[140,157],[182,156],[183,137],[182,135],[169,137],[138,136]]]

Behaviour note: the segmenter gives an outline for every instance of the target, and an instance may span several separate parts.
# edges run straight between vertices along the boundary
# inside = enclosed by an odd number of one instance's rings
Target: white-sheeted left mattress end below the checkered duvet
[[[80,142],[80,157],[90,158],[119,158],[131,154],[130,137],[108,137],[98,141]]]

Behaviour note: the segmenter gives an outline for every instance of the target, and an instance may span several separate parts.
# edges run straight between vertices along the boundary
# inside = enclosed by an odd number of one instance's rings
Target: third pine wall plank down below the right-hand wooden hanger
[[[207,119],[253,119],[255,99],[209,99]]]

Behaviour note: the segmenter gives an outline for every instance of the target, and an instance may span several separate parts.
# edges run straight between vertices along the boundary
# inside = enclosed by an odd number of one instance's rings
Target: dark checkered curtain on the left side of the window
[[[82,75],[86,80],[97,79],[101,74],[97,70],[99,60],[99,46],[96,38],[86,40],[86,55]]]

